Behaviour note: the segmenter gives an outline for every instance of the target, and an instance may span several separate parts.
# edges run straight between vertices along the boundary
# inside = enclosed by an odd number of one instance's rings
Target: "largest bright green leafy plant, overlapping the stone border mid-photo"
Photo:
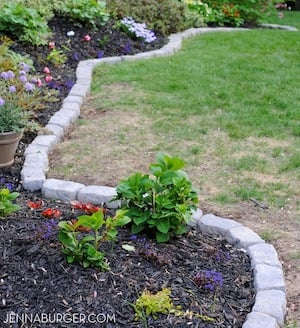
[[[122,180],[115,199],[122,200],[128,210],[132,233],[153,233],[158,242],[166,242],[187,231],[198,197],[181,170],[183,160],[163,153],[156,160],[149,167],[152,175],[136,173]]]

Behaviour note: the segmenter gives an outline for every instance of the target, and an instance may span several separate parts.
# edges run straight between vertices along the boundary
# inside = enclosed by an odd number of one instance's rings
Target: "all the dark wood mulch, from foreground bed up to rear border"
[[[75,32],[75,37],[69,43],[69,59],[63,67],[56,68],[45,62],[47,47],[34,48],[16,44],[14,49],[30,54],[37,71],[41,72],[44,66],[48,66],[54,72],[60,86],[61,99],[68,93],[64,82],[74,81],[78,59],[98,56],[99,51],[103,52],[103,56],[128,52],[132,54],[160,48],[166,42],[164,38],[158,38],[150,47],[132,41],[114,30],[113,25],[95,32],[55,19],[51,26],[55,31],[53,40],[56,46],[67,42],[68,31]],[[88,44],[82,40],[86,34],[92,38]],[[108,38],[105,47],[97,48],[97,40],[104,38]],[[46,107],[38,116],[39,122],[45,125],[59,108],[60,102]],[[27,200],[41,197],[39,192],[24,191],[20,182],[23,152],[34,137],[33,134],[26,134],[19,145],[15,164],[10,168],[0,169],[0,181],[14,184],[14,189],[20,192],[18,203],[22,207],[16,214],[0,220],[2,320],[6,320],[6,316],[12,312],[20,316],[37,314],[36,318],[41,320],[44,313],[47,320],[56,319],[57,322],[30,324],[28,319],[23,327],[96,327],[101,324],[106,327],[144,327],[142,322],[134,320],[134,309],[130,304],[145,289],[155,293],[168,287],[172,290],[175,305],[181,305],[184,311],[209,316],[214,321],[209,323],[189,316],[158,315],[157,319],[147,319],[148,327],[242,326],[254,302],[250,261],[244,252],[216,237],[205,236],[191,229],[185,236],[167,244],[156,244],[148,240],[146,243],[153,252],[152,256],[146,256],[143,253],[145,243],[131,240],[129,231],[121,229],[116,243],[103,245],[111,271],[101,272],[95,268],[82,269],[77,264],[68,265],[61,253],[56,234],[42,238],[38,233],[39,227],[47,219],[42,218],[40,212],[31,211],[26,206]],[[69,220],[82,214],[71,209],[69,204],[44,201],[44,208],[57,207],[62,211],[59,219]],[[137,251],[128,252],[122,248],[123,244],[135,245]],[[193,281],[193,276],[200,270],[220,272],[223,286],[215,291],[199,288]],[[89,317],[90,322],[80,323],[89,314],[95,314]],[[62,320],[62,315],[65,315],[64,322],[58,323]],[[11,318],[14,321],[15,318]],[[98,323],[95,321],[97,319]],[[18,323],[3,326],[22,327],[20,320]]]

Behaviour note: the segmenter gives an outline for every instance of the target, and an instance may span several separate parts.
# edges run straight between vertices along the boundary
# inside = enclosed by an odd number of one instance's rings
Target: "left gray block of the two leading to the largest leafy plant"
[[[63,201],[76,200],[80,189],[85,185],[73,181],[47,179],[42,187],[42,194],[48,199],[60,199]]]

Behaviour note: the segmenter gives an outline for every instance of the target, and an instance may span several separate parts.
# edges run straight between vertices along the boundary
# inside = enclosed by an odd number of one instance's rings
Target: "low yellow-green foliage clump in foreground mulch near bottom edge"
[[[156,319],[158,313],[168,314],[177,309],[170,295],[171,290],[169,288],[163,288],[156,294],[151,294],[148,290],[145,290],[135,303],[136,320],[143,319],[145,315],[152,315]]]

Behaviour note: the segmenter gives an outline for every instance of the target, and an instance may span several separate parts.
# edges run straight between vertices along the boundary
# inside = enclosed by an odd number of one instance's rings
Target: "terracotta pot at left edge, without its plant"
[[[0,168],[13,165],[22,134],[22,132],[0,133]]]

